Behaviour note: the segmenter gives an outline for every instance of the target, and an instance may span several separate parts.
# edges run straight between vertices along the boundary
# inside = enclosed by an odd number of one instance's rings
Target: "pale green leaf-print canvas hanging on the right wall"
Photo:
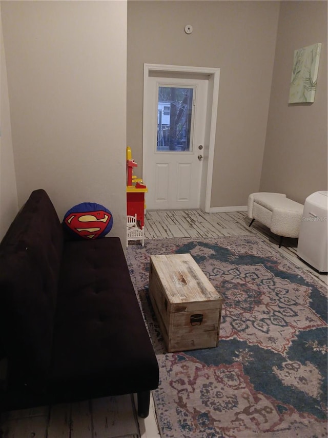
[[[314,102],[317,87],[321,43],[294,51],[288,103]]]

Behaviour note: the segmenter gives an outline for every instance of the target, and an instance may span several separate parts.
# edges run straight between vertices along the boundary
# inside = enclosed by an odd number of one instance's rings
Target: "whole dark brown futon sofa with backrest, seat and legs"
[[[158,364],[119,238],[70,241],[34,191],[0,244],[0,410],[137,393],[149,412]]]

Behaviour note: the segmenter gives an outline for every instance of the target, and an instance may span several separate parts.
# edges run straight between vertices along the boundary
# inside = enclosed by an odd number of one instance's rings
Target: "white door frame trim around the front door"
[[[148,78],[151,71],[163,73],[180,73],[186,74],[186,79],[190,74],[199,74],[207,76],[209,80],[208,102],[207,102],[207,120],[206,120],[206,139],[204,145],[203,166],[200,185],[200,208],[206,213],[210,212],[211,193],[212,193],[212,177],[213,177],[213,159],[215,149],[215,134],[217,122],[217,109],[219,100],[219,81],[220,69],[212,67],[189,67],[181,65],[166,65],[166,64],[144,64],[144,104],[143,104],[143,122],[142,122],[142,150],[145,147],[146,141],[146,97],[148,93]],[[204,78],[205,79],[205,78]],[[207,147],[208,145],[208,147]],[[145,154],[142,154],[142,169],[144,169]]]

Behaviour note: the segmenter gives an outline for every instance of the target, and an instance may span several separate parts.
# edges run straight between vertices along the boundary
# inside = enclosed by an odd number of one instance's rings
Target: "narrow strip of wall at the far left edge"
[[[0,241],[18,211],[0,3]]]

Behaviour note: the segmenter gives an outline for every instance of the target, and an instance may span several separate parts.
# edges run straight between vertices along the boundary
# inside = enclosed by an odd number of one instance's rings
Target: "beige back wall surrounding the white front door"
[[[211,207],[257,192],[280,2],[129,1],[127,140],[142,176],[144,63],[220,68]],[[186,24],[193,32],[185,33]],[[147,181],[145,181],[148,184]]]

